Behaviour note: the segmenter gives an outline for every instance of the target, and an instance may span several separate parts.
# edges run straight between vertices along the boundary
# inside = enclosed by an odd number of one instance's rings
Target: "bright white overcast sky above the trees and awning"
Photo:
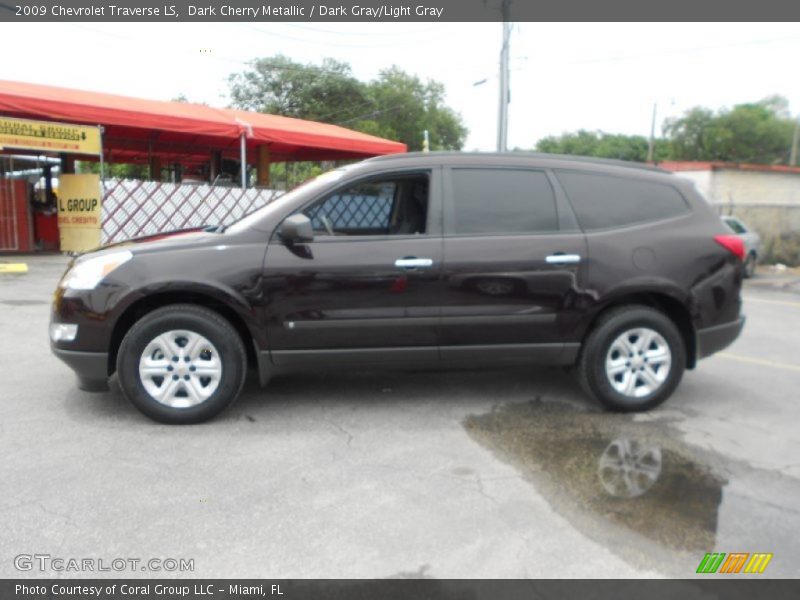
[[[0,79],[226,106],[228,75],[256,57],[332,57],[363,80],[397,65],[445,85],[465,150],[493,150],[501,36],[500,23],[0,23]],[[797,115],[797,56],[797,23],[516,23],[508,145],[649,135],[654,104],[659,130],[693,106],[771,94]]]

